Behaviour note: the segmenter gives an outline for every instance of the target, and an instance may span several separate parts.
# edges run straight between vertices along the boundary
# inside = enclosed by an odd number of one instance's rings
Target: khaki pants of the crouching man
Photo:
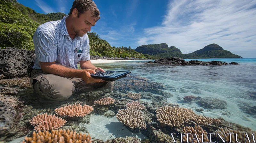
[[[67,100],[74,92],[75,87],[94,91],[111,87],[114,82],[86,83],[81,78],[64,78],[34,69],[31,72],[30,84],[33,90],[39,94],[41,102],[52,102]]]

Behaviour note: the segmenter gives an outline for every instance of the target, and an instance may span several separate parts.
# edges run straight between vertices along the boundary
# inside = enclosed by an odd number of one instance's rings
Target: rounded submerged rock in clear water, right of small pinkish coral
[[[205,97],[197,102],[200,106],[205,109],[227,109],[227,102],[213,98],[213,97]]]

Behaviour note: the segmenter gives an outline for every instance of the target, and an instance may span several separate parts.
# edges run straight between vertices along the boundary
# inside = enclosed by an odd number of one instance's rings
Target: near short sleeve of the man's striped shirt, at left
[[[57,49],[53,37],[42,31],[33,35],[36,59],[40,62],[54,62],[57,60]]]

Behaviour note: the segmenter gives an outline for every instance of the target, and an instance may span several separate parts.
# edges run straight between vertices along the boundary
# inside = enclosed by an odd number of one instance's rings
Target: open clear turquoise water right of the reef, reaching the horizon
[[[94,64],[105,70],[131,71],[151,81],[161,82],[174,96],[168,102],[191,108],[198,115],[219,118],[256,130],[256,58],[185,59],[201,61],[237,62],[240,65],[173,66],[144,64],[146,61],[120,61]],[[149,60],[150,61],[150,60]],[[151,60],[152,61],[152,60]],[[140,62],[140,63],[138,63]],[[204,109],[196,103],[184,103],[183,96],[213,97],[227,102],[227,109]],[[254,109],[253,109],[254,107]],[[204,109],[197,112],[195,109]],[[254,112],[254,113],[253,113]]]

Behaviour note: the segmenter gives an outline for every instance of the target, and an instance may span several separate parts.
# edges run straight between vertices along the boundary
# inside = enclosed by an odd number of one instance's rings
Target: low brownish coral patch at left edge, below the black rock
[[[17,86],[20,87],[31,87],[30,78],[16,78],[16,79],[1,79],[0,84],[4,84],[7,87]]]

